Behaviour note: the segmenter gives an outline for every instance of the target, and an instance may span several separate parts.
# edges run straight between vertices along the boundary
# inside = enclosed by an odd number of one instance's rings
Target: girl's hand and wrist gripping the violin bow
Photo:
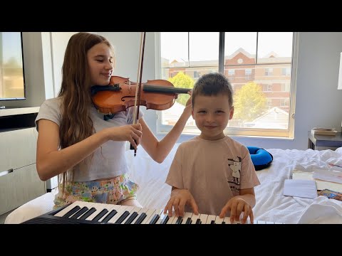
[[[108,128],[109,139],[116,142],[130,142],[137,149],[142,136],[141,124],[129,124],[122,127]]]

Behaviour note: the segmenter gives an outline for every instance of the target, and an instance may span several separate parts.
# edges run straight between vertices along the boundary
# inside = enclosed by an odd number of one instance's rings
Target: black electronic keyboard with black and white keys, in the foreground
[[[183,217],[169,217],[164,209],[148,209],[107,203],[76,201],[52,210],[22,224],[231,224],[230,217],[185,213]],[[247,223],[250,223],[249,219]],[[234,221],[233,224],[241,224]],[[254,224],[283,224],[254,220]]]

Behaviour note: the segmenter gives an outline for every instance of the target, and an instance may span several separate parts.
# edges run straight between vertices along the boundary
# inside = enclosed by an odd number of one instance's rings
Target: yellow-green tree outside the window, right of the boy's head
[[[266,97],[260,85],[247,82],[234,94],[234,119],[249,122],[259,117],[266,110]]]

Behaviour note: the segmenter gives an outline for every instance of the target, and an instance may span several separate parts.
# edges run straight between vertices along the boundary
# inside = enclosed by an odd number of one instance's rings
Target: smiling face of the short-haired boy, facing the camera
[[[234,107],[229,107],[227,95],[197,95],[192,110],[192,118],[201,131],[202,139],[223,139],[223,130],[232,119]]]

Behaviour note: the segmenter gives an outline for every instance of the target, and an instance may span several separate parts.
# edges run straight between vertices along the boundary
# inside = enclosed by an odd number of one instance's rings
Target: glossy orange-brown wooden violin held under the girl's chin
[[[115,114],[135,105],[137,82],[129,78],[112,76],[109,85],[91,87],[92,100],[95,107],[103,114]],[[187,93],[191,89],[176,88],[167,80],[147,80],[141,84],[140,99],[136,104],[146,109],[167,110],[174,105],[178,94]]]

